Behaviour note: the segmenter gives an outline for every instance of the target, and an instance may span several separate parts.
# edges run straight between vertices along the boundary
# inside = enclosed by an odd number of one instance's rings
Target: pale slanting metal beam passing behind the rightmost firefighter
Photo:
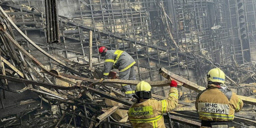
[[[205,90],[206,88],[205,87],[202,87],[202,86],[198,86],[197,84],[193,83],[193,82],[190,82],[188,80],[186,80],[185,78],[181,77],[181,76],[178,76],[164,68],[161,68],[159,70],[159,73],[169,79],[169,77],[171,77],[171,79],[174,79],[176,80],[178,83],[183,83],[183,86],[186,87],[186,88],[189,88],[191,90],[194,90],[196,91],[197,93],[199,93],[200,91],[202,90]],[[237,95],[241,100],[243,100],[244,103],[247,103],[247,104],[252,104],[252,105],[256,105],[256,99],[255,98],[251,98],[251,97],[245,97],[245,96],[240,96],[240,95]]]

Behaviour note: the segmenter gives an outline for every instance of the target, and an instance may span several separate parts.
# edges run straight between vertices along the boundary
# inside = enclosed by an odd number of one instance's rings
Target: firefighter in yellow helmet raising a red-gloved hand
[[[175,109],[179,97],[177,82],[172,80],[170,86],[169,97],[161,101],[151,99],[151,86],[147,82],[141,81],[136,86],[133,97],[137,102],[127,112],[133,128],[165,128],[163,113]]]

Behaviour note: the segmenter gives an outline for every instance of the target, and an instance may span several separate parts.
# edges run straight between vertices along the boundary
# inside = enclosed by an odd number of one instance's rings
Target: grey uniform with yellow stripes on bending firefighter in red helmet
[[[136,80],[136,73],[134,71],[134,59],[126,52],[121,50],[108,50],[105,55],[104,62],[104,79],[108,78],[109,72],[114,68],[119,70],[119,79],[122,80]],[[131,97],[136,86],[122,84],[122,88],[125,91],[125,97]]]

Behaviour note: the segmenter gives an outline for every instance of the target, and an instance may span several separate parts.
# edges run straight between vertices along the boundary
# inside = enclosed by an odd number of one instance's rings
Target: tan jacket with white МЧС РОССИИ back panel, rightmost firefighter
[[[200,120],[232,121],[234,113],[241,111],[243,101],[227,88],[208,84],[196,98],[196,109]]]

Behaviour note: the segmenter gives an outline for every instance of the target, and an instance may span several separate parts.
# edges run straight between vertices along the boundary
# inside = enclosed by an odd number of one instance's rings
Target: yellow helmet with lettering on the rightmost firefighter
[[[225,73],[219,69],[219,68],[214,68],[211,69],[208,74],[207,74],[207,81],[211,82],[219,82],[224,84],[225,83]]]

